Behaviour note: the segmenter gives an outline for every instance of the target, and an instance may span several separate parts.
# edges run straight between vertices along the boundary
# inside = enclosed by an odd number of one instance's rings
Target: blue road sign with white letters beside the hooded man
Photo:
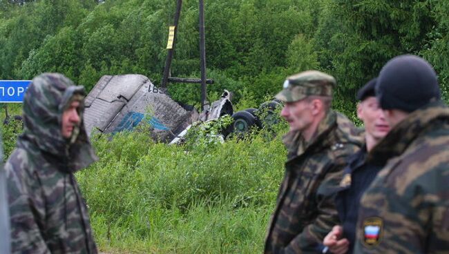
[[[0,80],[0,102],[22,103],[31,80]]]

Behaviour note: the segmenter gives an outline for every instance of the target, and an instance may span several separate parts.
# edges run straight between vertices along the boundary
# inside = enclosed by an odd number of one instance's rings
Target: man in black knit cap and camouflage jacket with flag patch
[[[354,253],[449,253],[449,108],[437,73],[394,57],[376,97],[392,130],[368,155],[386,164],[361,198]]]

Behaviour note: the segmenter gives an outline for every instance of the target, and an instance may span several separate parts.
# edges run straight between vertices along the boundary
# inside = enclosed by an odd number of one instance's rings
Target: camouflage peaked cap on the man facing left
[[[318,70],[307,70],[287,77],[283,90],[276,99],[284,102],[300,101],[310,95],[332,96],[332,87],[336,85],[334,77]]]

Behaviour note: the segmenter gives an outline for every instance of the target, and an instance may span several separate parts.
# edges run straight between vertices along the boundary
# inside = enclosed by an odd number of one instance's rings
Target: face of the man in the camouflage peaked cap
[[[288,121],[290,131],[304,131],[309,128],[313,122],[312,104],[307,99],[300,101],[286,102],[280,116]]]

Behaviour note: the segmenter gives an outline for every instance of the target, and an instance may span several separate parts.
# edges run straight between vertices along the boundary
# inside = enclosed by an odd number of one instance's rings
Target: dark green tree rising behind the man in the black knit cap
[[[323,44],[327,40],[327,50],[333,57],[330,68],[344,84],[339,89],[346,95],[353,95],[356,88],[375,77],[388,59],[417,54],[425,43],[422,38],[435,24],[430,1],[426,0],[334,0],[327,4],[334,13],[332,20],[323,17],[322,24],[336,33],[330,38],[324,34],[317,41]],[[343,25],[343,30],[333,21]]]

